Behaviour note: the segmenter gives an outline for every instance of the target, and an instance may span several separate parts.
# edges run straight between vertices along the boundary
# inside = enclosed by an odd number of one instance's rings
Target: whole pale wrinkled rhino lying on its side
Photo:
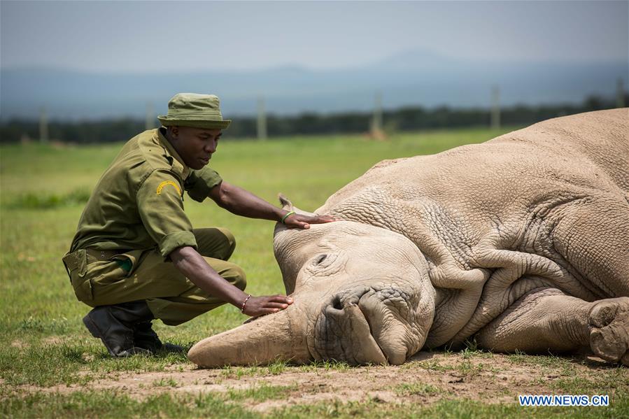
[[[339,221],[275,230],[295,303],[192,362],[401,364],[476,339],[629,365],[627,108],[381,162],[316,212]]]

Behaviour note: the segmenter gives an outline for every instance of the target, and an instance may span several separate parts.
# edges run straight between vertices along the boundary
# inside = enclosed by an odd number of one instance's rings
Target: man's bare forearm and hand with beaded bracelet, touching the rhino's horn
[[[246,315],[262,315],[276,313],[292,304],[292,299],[285,295],[249,297],[238,287],[228,283],[216,272],[195,248],[183,246],[170,253],[170,258],[179,271],[190,279],[193,284],[208,294],[236,306],[239,310],[246,301]]]

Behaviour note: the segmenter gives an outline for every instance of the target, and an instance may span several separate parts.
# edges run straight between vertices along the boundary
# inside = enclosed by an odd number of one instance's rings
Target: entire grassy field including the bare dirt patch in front
[[[267,201],[275,204],[282,192],[313,211],[382,159],[431,154],[498,134],[465,129],[397,134],[383,142],[362,136],[225,140],[212,165]],[[61,257],[85,199],[120,146],[0,148],[0,416],[629,416],[628,369],[582,358],[497,355],[472,347],[429,353],[402,367],[278,363],[213,371],[194,369],[183,355],[110,359],[80,321],[89,308],[76,301]],[[186,199],[185,206],[195,227],[232,230],[238,241],[232,261],[245,269],[248,292],[283,292],[272,253],[273,223],[238,218],[211,201]],[[191,346],[244,319],[235,307],[222,306],[178,327],[156,322],[155,329],[162,340]],[[500,374],[505,385],[496,378]],[[518,374],[521,381],[514,378]],[[334,383],[342,384],[330,391]],[[344,392],[358,383],[372,387]],[[516,404],[517,385],[544,394],[609,394],[611,406],[523,409]]]

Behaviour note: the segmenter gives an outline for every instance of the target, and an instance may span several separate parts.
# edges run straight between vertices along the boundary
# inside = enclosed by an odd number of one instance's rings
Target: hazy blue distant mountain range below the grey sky
[[[577,102],[588,94],[614,95],[616,80],[626,83],[628,74],[626,62],[474,62],[426,50],[329,71],[295,66],[177,73],[1,69],[0,118],[36,118],[41,107],[51,119],[144,118],[148,103],[156,114],[165,113],[177,92],[218,94],[227,117],[253,115],[259,97],[269,113],[366,111],[376,92],[385,108],[487,107],[493,85],[500,86],[505,105]]]

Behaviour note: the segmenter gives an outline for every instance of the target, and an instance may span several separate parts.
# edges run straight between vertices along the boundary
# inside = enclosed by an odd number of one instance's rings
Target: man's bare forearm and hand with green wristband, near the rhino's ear
[[[277,208],[269,204],[260,197],[256,197],[251,192],[243,190],[241,187],[232,185],[223,180],[210,190],[210,198],[218,206],[225,208],[230,213],[242,215],[249,218],[262,218],[263,220],[281,221],[288,214],[288,211]],[[308,215],[291,214],[285,218],[284,223],[288,227],[310,228],[311,224],[321,224],[323,222],[334,221],[329,215]]]

